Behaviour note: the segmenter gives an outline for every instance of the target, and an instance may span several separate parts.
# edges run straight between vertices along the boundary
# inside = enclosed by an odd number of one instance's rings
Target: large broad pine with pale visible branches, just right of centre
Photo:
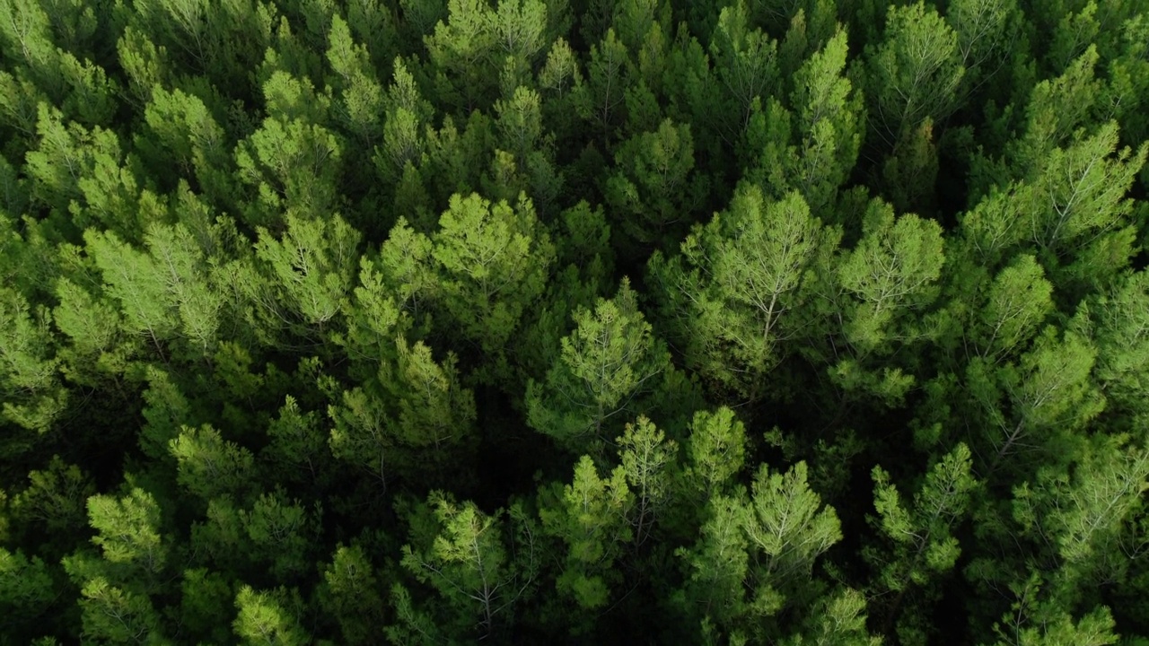
[[[779,346],[799,332],[787,315],[804,305],[807,269],[833,244],[800,195],[766,202],[749,187],[695,229],[680,257],[656,255],[650,272],[688,366],[743,397],[761,395],[762,376],[785,357]]]

